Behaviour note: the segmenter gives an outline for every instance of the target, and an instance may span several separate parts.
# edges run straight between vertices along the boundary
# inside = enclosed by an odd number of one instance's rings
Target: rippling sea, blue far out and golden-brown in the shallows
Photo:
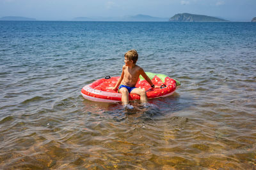
[[[0,169],[255,169],[256,24],[0,21]],[[81,89],[144,71],[180,81],[150,107]]]

